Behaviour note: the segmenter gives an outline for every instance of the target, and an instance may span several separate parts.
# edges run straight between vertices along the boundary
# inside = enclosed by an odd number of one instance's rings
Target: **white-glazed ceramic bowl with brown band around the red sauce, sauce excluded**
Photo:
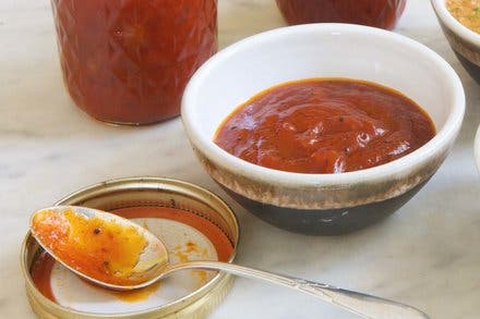
[[[243,161],[214,134],[233,109],[274,85],[349,77],[395,88],[432,118],[436,136],[389,163],[340,174],[301,174]],[[243,39],[208,60],[190,81],[182,120],[205,170],[238,203],[279,228],[339,234],[393,213],[435,173],[460,128],[465,94],[439,54],[404,36],[348,24],[284,27]]]

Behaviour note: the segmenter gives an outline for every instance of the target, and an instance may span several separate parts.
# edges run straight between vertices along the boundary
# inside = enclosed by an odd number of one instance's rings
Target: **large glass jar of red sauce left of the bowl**
[[[51,0],[65,86],[95,119],[159,122],[217,50],[216,0]]]

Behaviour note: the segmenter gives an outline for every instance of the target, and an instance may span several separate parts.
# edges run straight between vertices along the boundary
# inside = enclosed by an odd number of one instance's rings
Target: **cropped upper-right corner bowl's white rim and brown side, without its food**
[[[439,23],[465,70],[480,84],[480,35],[459,23],[446,9],[446,0],[431,0]]]

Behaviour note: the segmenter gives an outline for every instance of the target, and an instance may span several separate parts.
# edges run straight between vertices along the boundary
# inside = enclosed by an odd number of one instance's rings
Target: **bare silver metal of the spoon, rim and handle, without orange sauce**
[[[133,269],[133,273],[131,274],[132,279],[134,279],[135,281],[135,284],[131,284],[131,285],[111,284],[105,281],[100,281],[96,278],[92,278],[85,273],[82,273],[79,270],[76,270],[74,267],[72,267],[72,265],[69,265],[64,260],[61,260],[56,255],[56,251],[52,251],[52,249],[50,249],[49,243],[44,243],[41,238],[38,237],[38,234],[36,233],[35,228],[33,226],[33,221],[38,213],[40,212],[45,213],[45,210],[50,210],[56,213],[63,213],[68,209],[70,210],[73,209],[79,216],[83,216],[86,219],[95,217],[101,220],[124,225],[125,228],[133,226],[139,231],[139,233],[144,235],[148,244],[146,245],[144,251],[142,251],[140,256],[140,259],[142,260],[142,267],[139,269]],[[68,269],[75,272],[77,275],[85,278],[86,280],[109,290],[129,291],[129,290],[142,289],[155,283],[156,281],[169,275],[170,273],[177,270],[184,270],[184,269],[220,270],[245,278],[261,279],[271,283],[279,284],[302,293],[313,295],[324,302],[345,308],[363,318],[403,318],[403,319],[429,318],[424,312],[411,306],[407,306],[393,300],[388,300],[358,292],[347,291],[332,285],[308,281],[304,279],[293,278],[289,275],[281,275],[273,272],[263,271],[260,269],[248,268],[228,262],[189,261],[184,263],[170,265],[168,262],[167,249],[165,248],[165,245],[158,240],[157,236],[153,235],[144,228],[140,226],[139,224],[130,220],[123,219],[121,217],[101,210],[96,210],[85,207],[75,207],[75,206],[58,206],[58,207],[46,208],[33,214],[31,220],[31,231],[33,236],[38,241],[38,243],[44,247],[44,249],[47,250],[57,261],[61,262]],[[157,248],[152,249],[152,247],[157,247]],[[140,283],[139,283],[139,279],[142,279]]]

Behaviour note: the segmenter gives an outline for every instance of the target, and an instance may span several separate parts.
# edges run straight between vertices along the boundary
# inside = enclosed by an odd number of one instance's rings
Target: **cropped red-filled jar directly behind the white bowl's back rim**
[[[407,0],[276,0],[289,24],[338,22],[395,27]]]

